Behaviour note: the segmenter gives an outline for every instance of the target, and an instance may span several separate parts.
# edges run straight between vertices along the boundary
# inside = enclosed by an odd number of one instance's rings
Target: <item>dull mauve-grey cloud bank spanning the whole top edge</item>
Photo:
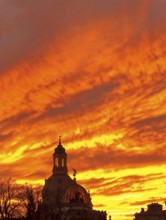
[[[128,0],[73,0],[72,2],[65,0],[38,0],[35,2],[10,0],[2,1],[1,5],[1,73],[24,59],[32,59],[34,53],[37,57],[41,56],[51,41],[56,39],[59,42],[59,38],[62,36],[68,37],[71,28],[82,27],[106,16],[108,19],[116,21],[114,26],[121,34],[126,20],[131,29],[139,27],[135,34],[131,34],[128,44],[131,44],[131,38],[138,42],[138,36],[141,36],[144,31],[141,30],[144,23],[151,36],[151,33],[155,34],[153,25],[155,28],[163,26],[165,19],[163,12],[165,2],[162,0],[158,0],[157,3],[153,0],[146,3],[143,0],[134,2]],[[150,9],[147,11],[148,8]],[[140,23],[144,10],[147,12],[147,21]],[[130,14],[127,19],[126,11],[127,14]]]

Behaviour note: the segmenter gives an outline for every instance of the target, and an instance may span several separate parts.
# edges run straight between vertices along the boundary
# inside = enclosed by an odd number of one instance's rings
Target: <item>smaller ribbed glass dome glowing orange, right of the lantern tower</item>
[[[67,187],[63,194],[63,204],[84,204],[89,208],[92,208],[91,198],[86,189],[73,181],[73,184]]]

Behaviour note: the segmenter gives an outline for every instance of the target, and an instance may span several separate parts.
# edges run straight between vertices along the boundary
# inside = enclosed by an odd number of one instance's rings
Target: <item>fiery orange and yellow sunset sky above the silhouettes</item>
[[[95,209],[166,185],[166,1],[0,0],[0,175],[41,183],[59,135]]]

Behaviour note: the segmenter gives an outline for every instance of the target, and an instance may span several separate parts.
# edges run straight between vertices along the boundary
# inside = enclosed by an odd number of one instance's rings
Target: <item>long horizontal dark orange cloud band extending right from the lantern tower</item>
[[[165,164],[165,150],[153,150],[151,152],[133,152],[125,150],[113,150],[104,146],[97,146],[95,149],[82,148],[76,151],[69,151],[73,167],[77,168],[79,158],[81,171],[103,169],[126,169],[132,167],[145,167],[150,165]],[[86,157],[84,156],[86,155]]]

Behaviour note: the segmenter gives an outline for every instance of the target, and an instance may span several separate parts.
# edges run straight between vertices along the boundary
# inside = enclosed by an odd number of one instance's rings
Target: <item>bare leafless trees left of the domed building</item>
[[[0,177],[0,219],[37,219],[41,194],[41,185],[22,185],[11,177]]]

